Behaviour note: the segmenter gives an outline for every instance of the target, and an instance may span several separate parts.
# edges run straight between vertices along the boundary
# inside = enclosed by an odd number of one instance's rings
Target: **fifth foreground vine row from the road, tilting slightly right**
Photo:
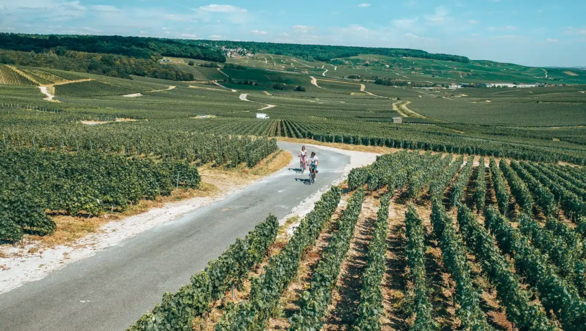
[[[431,318],[431,301],[428,298],[427,281],[425,281],[425,238],[423,223],[413,206],[409,206],[405,213],[405,227],[407,229],[407,248],[405,256],[409,266],[409,279],[413,283],[410,295],[414,297],[415,322],[410,330],[431,331],[437,330],[437,325]]]

